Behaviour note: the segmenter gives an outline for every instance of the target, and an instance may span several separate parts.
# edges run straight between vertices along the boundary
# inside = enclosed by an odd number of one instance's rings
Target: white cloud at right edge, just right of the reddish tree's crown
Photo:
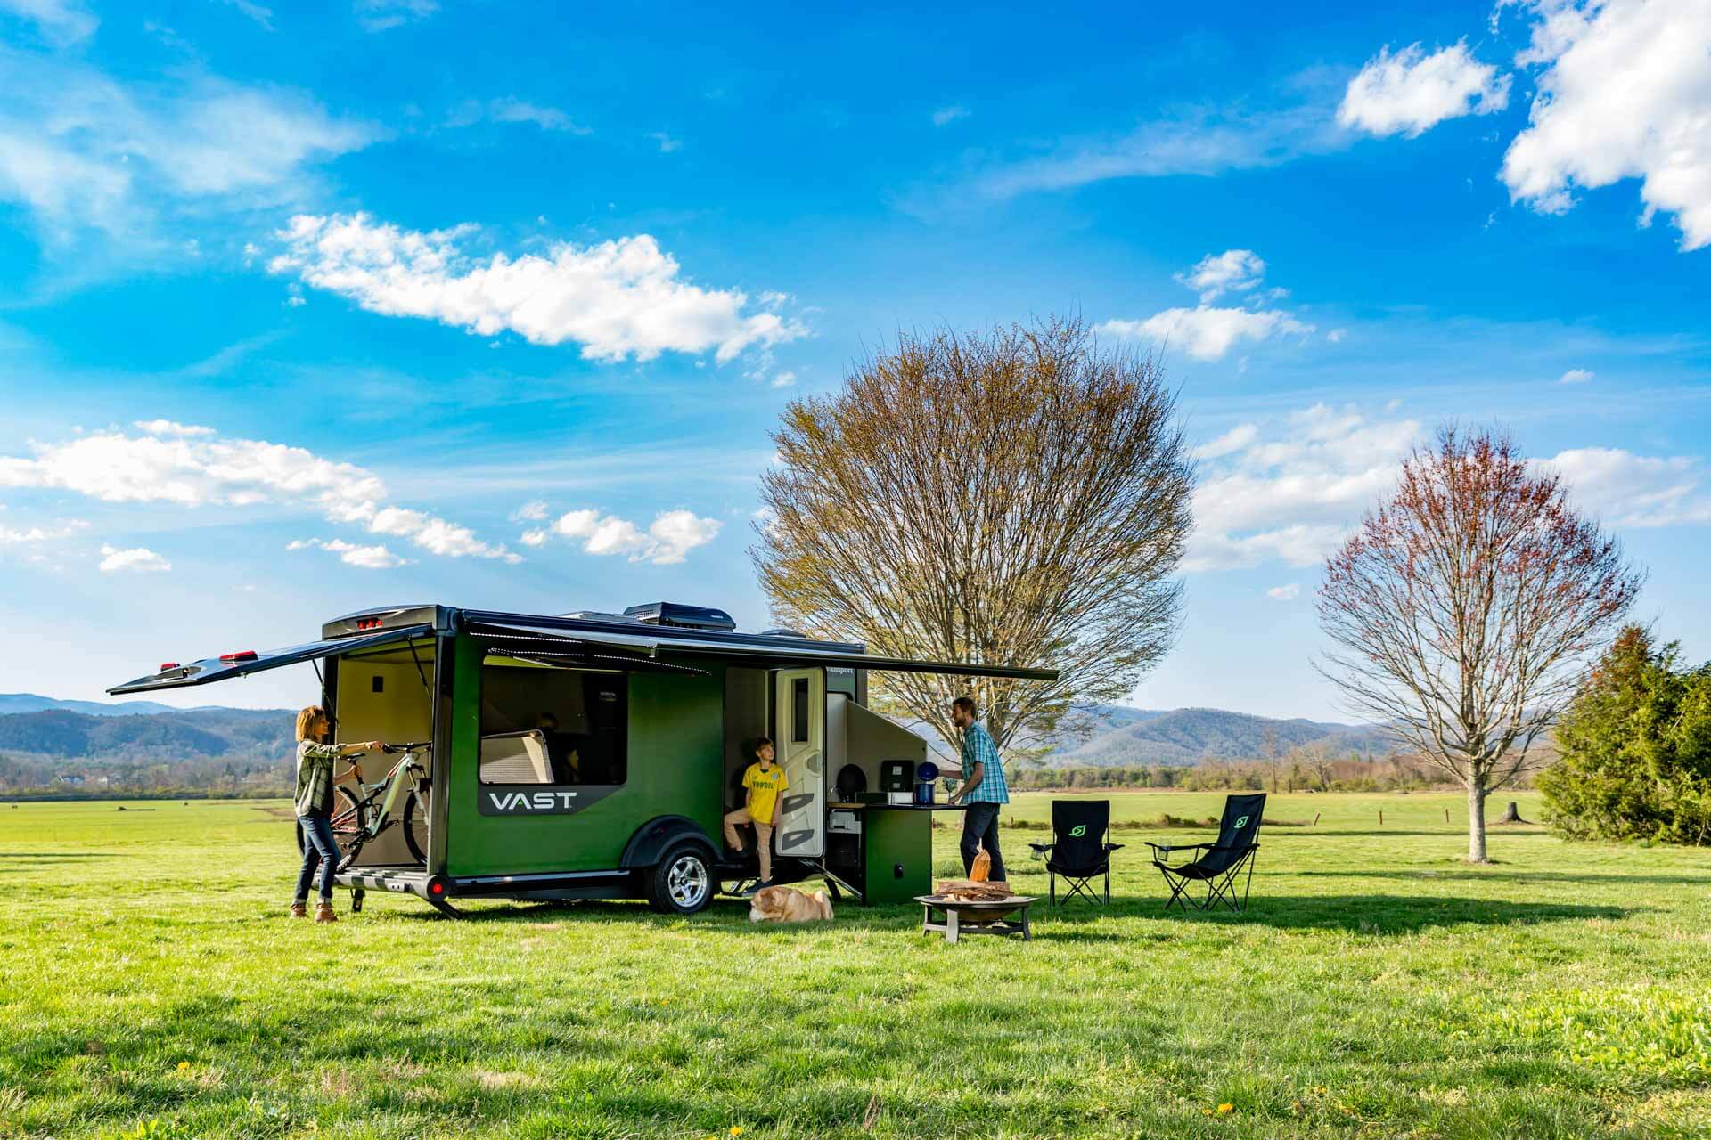
[[[1562,475],[1576,506],[1612,526],[1711,523],[1711,489],[1704,461],[1696,456],[1572,448],[1540,465]]]

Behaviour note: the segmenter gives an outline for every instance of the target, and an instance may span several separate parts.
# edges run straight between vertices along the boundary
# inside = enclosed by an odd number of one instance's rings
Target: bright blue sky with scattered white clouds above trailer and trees
[[[0,690],[400,600],[763,627],[785,402],[1049,313],[1201,456],[1136,702],[1338,716],[1317,564],[1446,417],[1711,656],[1706,0],[0,0]]]

